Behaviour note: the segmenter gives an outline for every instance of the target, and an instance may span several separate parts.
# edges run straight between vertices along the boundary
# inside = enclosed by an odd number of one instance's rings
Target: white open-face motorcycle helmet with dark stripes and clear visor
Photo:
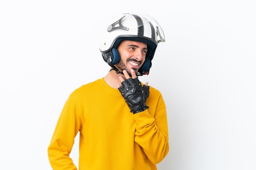
[[[120,60],[117,47],[124,40],[139,41],[148,45],[146,59],[137,76],[149,73],[151,60],[153,59],[157,44],[164,42],[164,33],[157,22],[143,13],[124,13],[112,20],[100,42],[102,57],[114,70],[114,66]]]

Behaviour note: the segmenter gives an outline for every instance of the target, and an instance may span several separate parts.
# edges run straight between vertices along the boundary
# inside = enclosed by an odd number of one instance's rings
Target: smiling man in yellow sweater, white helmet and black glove
[[[157,170],[169,150],[166,106],[137,76],[149,73],[161,41],[162,29],[143,14],[108,26],[100,51],[111,70],[67,99],[48,147],[54,170],[76,170],[69,155],[78,132],[79,170]]]

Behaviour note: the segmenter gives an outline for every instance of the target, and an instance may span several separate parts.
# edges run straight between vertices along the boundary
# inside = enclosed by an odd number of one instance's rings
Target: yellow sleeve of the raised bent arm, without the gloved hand
[[[143,148],[150,161],[159,163],[169,151],[167,114],[162,95],[156,108],[150,105],[150,109],[134,114],[133,118],[137,124],[135,142]]]

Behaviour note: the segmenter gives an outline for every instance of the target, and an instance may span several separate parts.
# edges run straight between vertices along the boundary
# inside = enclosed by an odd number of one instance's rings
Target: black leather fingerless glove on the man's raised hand
[[[138,77],[134,79],[128,78],[121,85],[118,89],[130,108],[130,112],[135,114],[149,108],[146,106],[146,100],[149,96],[149,86],[143,85],[142,87]]]

